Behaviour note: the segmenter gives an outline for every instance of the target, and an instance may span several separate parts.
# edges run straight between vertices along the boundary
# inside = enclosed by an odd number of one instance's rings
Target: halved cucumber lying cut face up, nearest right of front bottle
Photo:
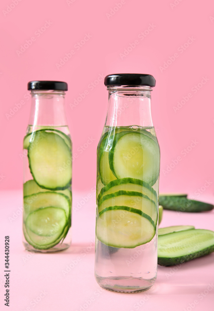
[[[214,252],[214,232],[191,229],[158,237],[158,264],[172,266]]]

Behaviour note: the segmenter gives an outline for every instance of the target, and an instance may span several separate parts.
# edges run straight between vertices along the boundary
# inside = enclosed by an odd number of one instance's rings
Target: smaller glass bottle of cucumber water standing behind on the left
[[[71,243],[72,142],[64,111],[65,82],[31,81],[23,142],[23,244],[54,252]]]

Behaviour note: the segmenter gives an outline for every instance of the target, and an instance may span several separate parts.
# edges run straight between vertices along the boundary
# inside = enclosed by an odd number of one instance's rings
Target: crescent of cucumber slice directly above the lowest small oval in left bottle
[[[39,192],[26,196],[24,197],[24,221],[31,212],[45,207],[62,208],[68,218],[71,202],[64,194],[56,192]]]

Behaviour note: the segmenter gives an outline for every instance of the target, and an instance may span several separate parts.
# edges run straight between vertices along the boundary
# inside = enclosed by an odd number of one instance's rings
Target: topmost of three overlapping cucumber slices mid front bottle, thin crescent
[[[97,197],[99,201],[104,195],[114,193],[120,190],[141,192],[149,197],[151,200],[158,202],[156,191],[150,186],[149,183],[145,183],[140,179],[134,178],[121,178],[111,181],[107,186],[103,187]]]

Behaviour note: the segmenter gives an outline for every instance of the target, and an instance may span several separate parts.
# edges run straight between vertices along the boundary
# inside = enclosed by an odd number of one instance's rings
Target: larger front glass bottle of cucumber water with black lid
[[[95,278],[118,292],[149,289],[157,276],[159,144],[150,111],[155,79],[105,77],[109,102],[97,147]]]

